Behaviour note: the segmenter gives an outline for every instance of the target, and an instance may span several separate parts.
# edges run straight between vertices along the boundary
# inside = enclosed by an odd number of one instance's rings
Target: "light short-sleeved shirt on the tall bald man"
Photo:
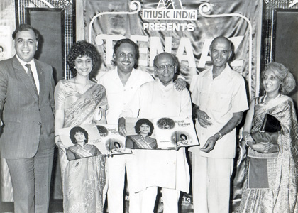
[[[200,146],[204,146],[209,137],[220,131],[233,117],[233,113],[248,109],[248,99],[243,77],[226,65],[219,76],[213,78],[212,68],[192,77],[189,88],[192,102],[205,111],[211,118],[211,126],[203,128],[196,122],[197,136]],[[236,153],[236,128],[216,142],[214,150],[209,153],[199,151],[199,147],[189,151],[200,152],[209,158],[234,158]]]

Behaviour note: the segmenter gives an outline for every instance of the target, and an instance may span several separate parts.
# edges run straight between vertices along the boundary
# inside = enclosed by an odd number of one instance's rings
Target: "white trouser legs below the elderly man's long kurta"
[[[140,194],[140,213],[153,213],[158,187],[148,187]],[[163,213],[178,213],[179,190],[162,188]]]

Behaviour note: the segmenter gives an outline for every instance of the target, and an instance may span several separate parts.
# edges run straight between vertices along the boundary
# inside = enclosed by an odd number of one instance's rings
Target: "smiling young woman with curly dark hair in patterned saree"
[[[94,80],[100,56],[94,45],[79,41],[67,56],[72,75],[55,88],[55,143],[60,150],[64,212],[103,212],[106,196],[106,159],[103,155],[68,161],[61,128],[106,124],[106,90]]]

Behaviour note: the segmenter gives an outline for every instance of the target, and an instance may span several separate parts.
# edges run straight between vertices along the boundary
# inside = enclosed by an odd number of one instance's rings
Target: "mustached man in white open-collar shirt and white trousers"
[[[125,38],[114,45],[114,60],[116,68],[99,76],[99,84],[106,88],[109,110],[106,112],[108,124],[118,124],[119,115],[126,105],[136,96],[137,90],[146,82],[154,80],[148,72],[136,70],[138,46],[132,40]],[[184,89],[184,80],[176,81],[177,89]],[[133,186],[133,177],[129,172],[131,155],[114,155],[108,158],[109,189],[108,207],[110,213],[123,212],[123,188],[125,170],[127,170],[128,189]],[[129,194],[129,212],[139,213],[138,195]]]

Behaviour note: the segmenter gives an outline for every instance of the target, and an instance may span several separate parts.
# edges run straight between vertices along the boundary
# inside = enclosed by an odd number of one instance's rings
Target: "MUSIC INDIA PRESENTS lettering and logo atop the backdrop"
[[[193,23],[180,21],[196,21],[197,10],[184,10],[181,0],[160,0],[156,9],[143,9],[143,20],[174,20],[171,23],[144,22],[143,29],[149,31],[194,31]]]

